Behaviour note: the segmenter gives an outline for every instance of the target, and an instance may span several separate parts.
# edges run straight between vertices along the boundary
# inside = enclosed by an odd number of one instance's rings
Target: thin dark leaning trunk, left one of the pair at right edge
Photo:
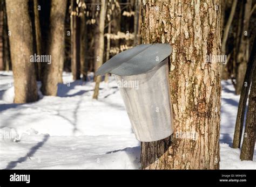
[[[233,139],[233,148],[240,148],[241,145],[241,138],[242,138],[242,128],[244,125],[244,117],[245,117],[245,108],[246,102],[248,98],[248,93],[250,90],[250,85],[253,76],[253,70],[255,68],[255,63],[253,62],[253,57],[255,57],[255,41],[253,44],[253,49],[251,52],[251,58],[248,62],[248,66],[246,69],[245,77],[244,77],[244,84],[242,84],[240,100],[238,104],[238,111],[237,111],[237,120],[235,121],[235,130],[234,130],[234,139]]]

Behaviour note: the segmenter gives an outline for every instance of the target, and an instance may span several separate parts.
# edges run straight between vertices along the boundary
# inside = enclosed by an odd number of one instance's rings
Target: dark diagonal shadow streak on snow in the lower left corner
[[[49,139],[49,134],[44,135],[43,140],[41,142],[38,142],[35,146],[31,147],[29,150],[29,153],[27,153],[26,156],[20,157],[16,161],[9,162],[8,165],[6,166],[6,168],[4,168],[4,169],[13,169],[17,166],[18,163],[22,163],[22,162],[25,162],[26,160],[28,160],[28,157],[33,156],[36,153],[36,151],[40,147],[42,147],[48,139]]]

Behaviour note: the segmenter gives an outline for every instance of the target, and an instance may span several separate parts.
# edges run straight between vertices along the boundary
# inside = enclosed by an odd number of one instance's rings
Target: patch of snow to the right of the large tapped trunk
[[[256,169],[255,148],[253,161],[241,161],[241,150],[231,148],[240,96],[235,95],[231,80],[221,81],[221,86],[220,169]]]

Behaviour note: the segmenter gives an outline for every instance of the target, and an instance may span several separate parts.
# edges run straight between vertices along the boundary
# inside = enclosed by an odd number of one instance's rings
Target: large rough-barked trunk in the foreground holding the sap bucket
[[[142,143],[143,169],[219,169],[220,0],[143,1],[142,41],[169,43],[174,134]]]

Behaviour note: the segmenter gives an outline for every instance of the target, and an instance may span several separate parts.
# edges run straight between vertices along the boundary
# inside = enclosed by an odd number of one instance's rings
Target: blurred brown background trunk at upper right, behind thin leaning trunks
[[[252,0],[247,0],[244,6],[244,19],[242,24],[241,38],[238,46],[237,54],[237,69],[236,69],[236,81],[235,93],[237,95],[241,94],[242,84],[244,84],[245,71],[248,61],[249,53],[249,22],[250,22],[250,12],[252,9]]]

